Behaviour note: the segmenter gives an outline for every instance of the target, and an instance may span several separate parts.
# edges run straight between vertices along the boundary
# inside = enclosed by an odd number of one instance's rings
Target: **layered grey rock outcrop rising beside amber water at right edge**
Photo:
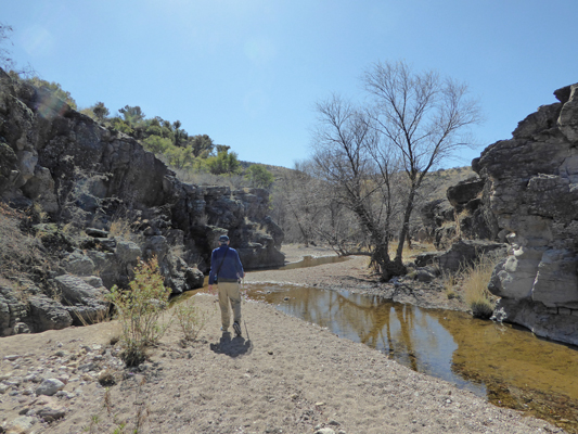
[[[510,243],[490,291],[497,318],[578,345],[578,84],[472,163],[493,232]]]

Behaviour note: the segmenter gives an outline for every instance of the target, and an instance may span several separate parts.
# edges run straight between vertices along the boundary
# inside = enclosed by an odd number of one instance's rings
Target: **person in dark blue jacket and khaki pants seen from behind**
[[[208,275],[208,290],[213,294],[213,284],[217,285],[219,293],[219,307],[221,308],[221,330],[229,332],[231,317],[229,303],[233,308],[233,330],[241,336],[241,293],[239,280],[245,277],[243,265],[234,248],[229,247],[229,237],[219,237],[220,247],[215,248],[210,255],[210,273]]]

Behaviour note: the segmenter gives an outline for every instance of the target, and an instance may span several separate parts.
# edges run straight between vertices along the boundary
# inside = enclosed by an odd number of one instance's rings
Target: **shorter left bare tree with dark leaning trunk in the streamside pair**
[[[368,233],[374,266],[387,280],[402,273],[389,258],[393,197],[390,154],[367,114],[337,95],[317,103],[313,162],[318,176],[333,186],[341,203]]]

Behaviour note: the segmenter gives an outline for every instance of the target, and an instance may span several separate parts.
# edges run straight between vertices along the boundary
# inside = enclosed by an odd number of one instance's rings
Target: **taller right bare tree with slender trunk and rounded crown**
[[[373,104],[367,113],[387,152],[402,162],[409,179],[395,263],[403,243],[415,196],[425,175],[459,149],[471,146],[470,126],[480,122],[478,103],[467,87],[434,72],[415,73],[404,62],[375,63],[363,75]]]

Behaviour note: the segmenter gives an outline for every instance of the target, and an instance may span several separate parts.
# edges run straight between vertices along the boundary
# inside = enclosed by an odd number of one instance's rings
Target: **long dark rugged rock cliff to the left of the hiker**
[[[39,279],[49,286],[41,292],[66,295],[66,309],[54,315],[53,303],[35,299],[29,318],[4,285],[0,335],[25,317],[22,329],[31,331],[90,321],[107,308],[94,302],[102,291],[85,296],[93,283],[127,285],[139,258],[156,256],[174,293],[200,288],[222,233],[246,268],[283,265],[283,232],[267,216],[268,200],[260,189],[181,182],[133,138],[0,69],[0,202],[43,216],[33,231],[61,264]]]

